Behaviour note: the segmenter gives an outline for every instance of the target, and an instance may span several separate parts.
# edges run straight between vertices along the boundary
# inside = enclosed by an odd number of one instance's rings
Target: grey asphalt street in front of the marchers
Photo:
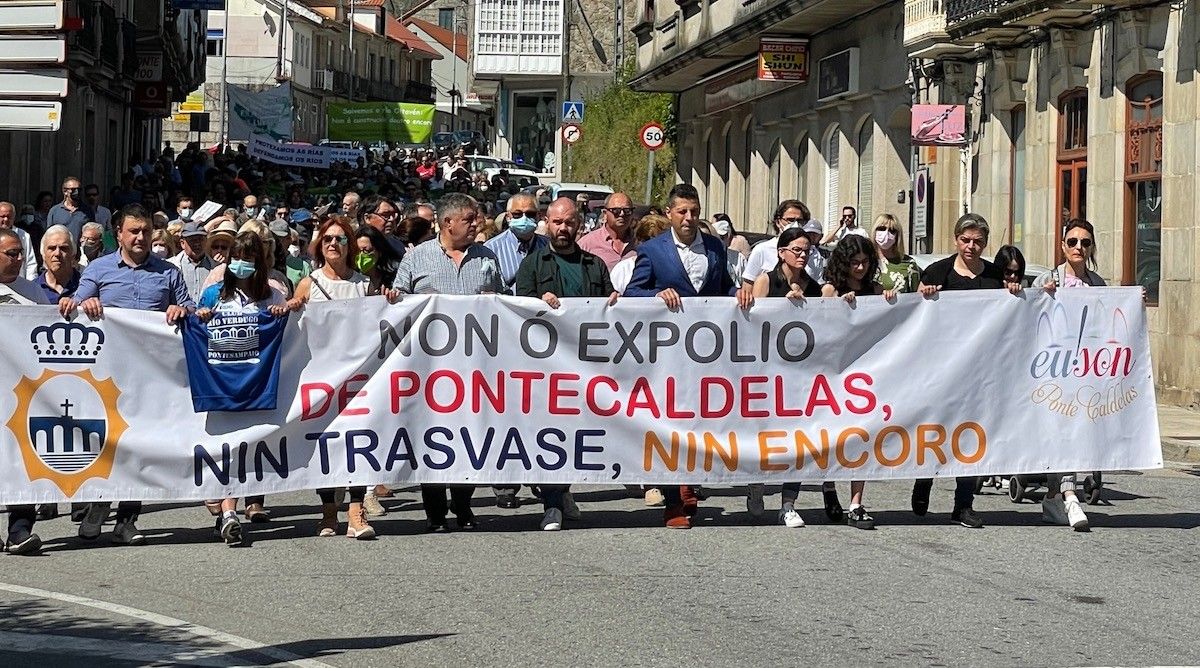
[[[143,547],[59,518],[42,556],[0,555],[0,666],[1194,664],[1198,476],[1110,474],[1088,534],[997,492],[986,528],[952,525],[947,482],[924,518],[910,483],[869,485],[875,531],[829,525],[816,486],[803,529],[752,523],[736,488],[690,531],[616,487],[577,489],[557,534],[528,489],[478,489],[479,530],[450,535],[398,491],[372,542],[316,537],[311,493],[268,498],[242,548],[196,505],[149,507]]]

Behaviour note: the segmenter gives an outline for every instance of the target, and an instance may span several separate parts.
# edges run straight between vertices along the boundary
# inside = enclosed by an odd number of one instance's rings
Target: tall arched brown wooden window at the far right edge
[[[1126,216],[1122,276],[1146,288],[1158,303],[1163,246],[1163,74],[1148,72],[1126,84]]]

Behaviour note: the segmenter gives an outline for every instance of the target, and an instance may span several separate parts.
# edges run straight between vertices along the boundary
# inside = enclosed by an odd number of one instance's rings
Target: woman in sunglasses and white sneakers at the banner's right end
[[[1062,254],[1067,261],[1038,276],[1034,285],[1054,294],[1058,288],[1098,288],[1104,279],[1096,273],[1096,230],[1092,223],[1074,218],[1067,222],[1062,236]],[[1046,495],[1042,499],[1042,520],[1087,531],[1087,513],[1075,497],[1076,476],[1046,474]]]

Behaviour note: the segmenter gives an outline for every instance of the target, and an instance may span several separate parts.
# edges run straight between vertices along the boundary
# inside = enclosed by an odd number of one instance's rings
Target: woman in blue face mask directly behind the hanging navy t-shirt
[[[271,266],[269,258],[263,237],[250,230],[240,233],[229,249],[229,261],[224,265],[222,279],[204,289],[196,317],[206,323],[217,313],[241,315],[266,309],[275,317],[286,314],[289,311],[287,297],[268,282]],[[205,501],[205,505],[209,504],[211,501]],[[227,544],[241,544],[238,499],[222,499],[220,506],[217,535]],[[246,497],[246,517],[251,522],[265,520],[263,497]]]

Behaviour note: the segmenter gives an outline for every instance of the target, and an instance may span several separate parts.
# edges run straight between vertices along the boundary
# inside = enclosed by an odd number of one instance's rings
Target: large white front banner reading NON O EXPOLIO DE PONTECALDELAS
[[[336,301],[287,323],[277,410],[208,414],[161,313],[4,307],[0,502],[1157,468],[1141,299]]]

